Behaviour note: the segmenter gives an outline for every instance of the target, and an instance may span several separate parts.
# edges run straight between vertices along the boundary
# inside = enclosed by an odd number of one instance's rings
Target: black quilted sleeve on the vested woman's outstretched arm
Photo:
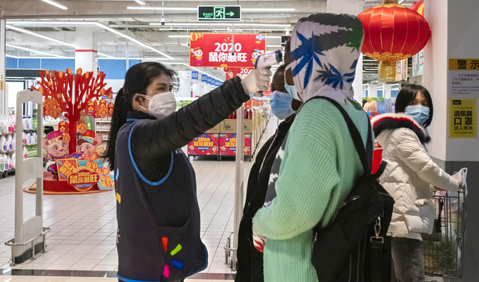
[[[241,79],[235,77],[163,119],[130,111],[129,119],[150,120],[138,124],[132,132],[132,153],[139,170],[152,181],[163,178],[171,151],[187,145],[249,99]]]

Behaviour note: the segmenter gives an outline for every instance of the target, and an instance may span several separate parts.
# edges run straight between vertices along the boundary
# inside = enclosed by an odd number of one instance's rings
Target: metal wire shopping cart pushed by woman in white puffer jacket
[[[423,233],[427,276],[460,278],[463,273],[467,192],[436,191],[434,230]]]

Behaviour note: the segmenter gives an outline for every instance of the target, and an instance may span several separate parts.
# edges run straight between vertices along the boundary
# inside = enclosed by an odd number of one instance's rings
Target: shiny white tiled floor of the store
[[[272,117],[257,148],[261,148],[276,128],[277,119]],[[202,240],[209,252],[208,268],[203,272],[234,273],[224,264],[223,249],[234,224],[234,159],[216,161],[191,158],[191,161],[197,173]],[[245,182],[251,166],[252,161],[245,161]],[[0,179],[0,268],[117,271],[117,219],[113,191],[86,195],[45,195],[44,226],[51,228],[46,237],[46,253],[35,261],[9,266],[11,251],[3,242],[14,236],[14,180],[14,176]],[[23,196],[24,213],[32,216],[35,195],[24,193]],[[9,281],[6,277],[0,274],[0,282]],[[11,281],[79,281],[74,278],[56,280],[35,277],[13,276]],[[102,281],[107,280],[104,278]],[[82,281],[87,279],[82,278]]]

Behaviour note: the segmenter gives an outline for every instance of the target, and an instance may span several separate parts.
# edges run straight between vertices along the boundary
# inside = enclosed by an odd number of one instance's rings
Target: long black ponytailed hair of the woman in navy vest
[[[110,134],[103,158],[109,163],[109,169],[113,171],[115,162],[115,145],[117,142],[118,131],[127,122],[128,111],[132,111],[132,99],[135,94],[146,94],[147,87],[157,76],[165,74],[174,81],[174,71],[167,69],[163,64],[153,61],[145,61],[136,64],[128,69],[124,76],[124,85],[118,91],[117,98],[114,102],[112,114],[112,126],[110,126]]]

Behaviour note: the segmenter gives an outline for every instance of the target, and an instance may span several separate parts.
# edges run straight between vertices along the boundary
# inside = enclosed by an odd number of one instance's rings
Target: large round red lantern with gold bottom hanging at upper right
[[[365,30],[362,53],[380,61],[380,82],[395,81],[395,61],[418,54],[431,34],[428,21],[397,0],[385,0],[357,17]]]

